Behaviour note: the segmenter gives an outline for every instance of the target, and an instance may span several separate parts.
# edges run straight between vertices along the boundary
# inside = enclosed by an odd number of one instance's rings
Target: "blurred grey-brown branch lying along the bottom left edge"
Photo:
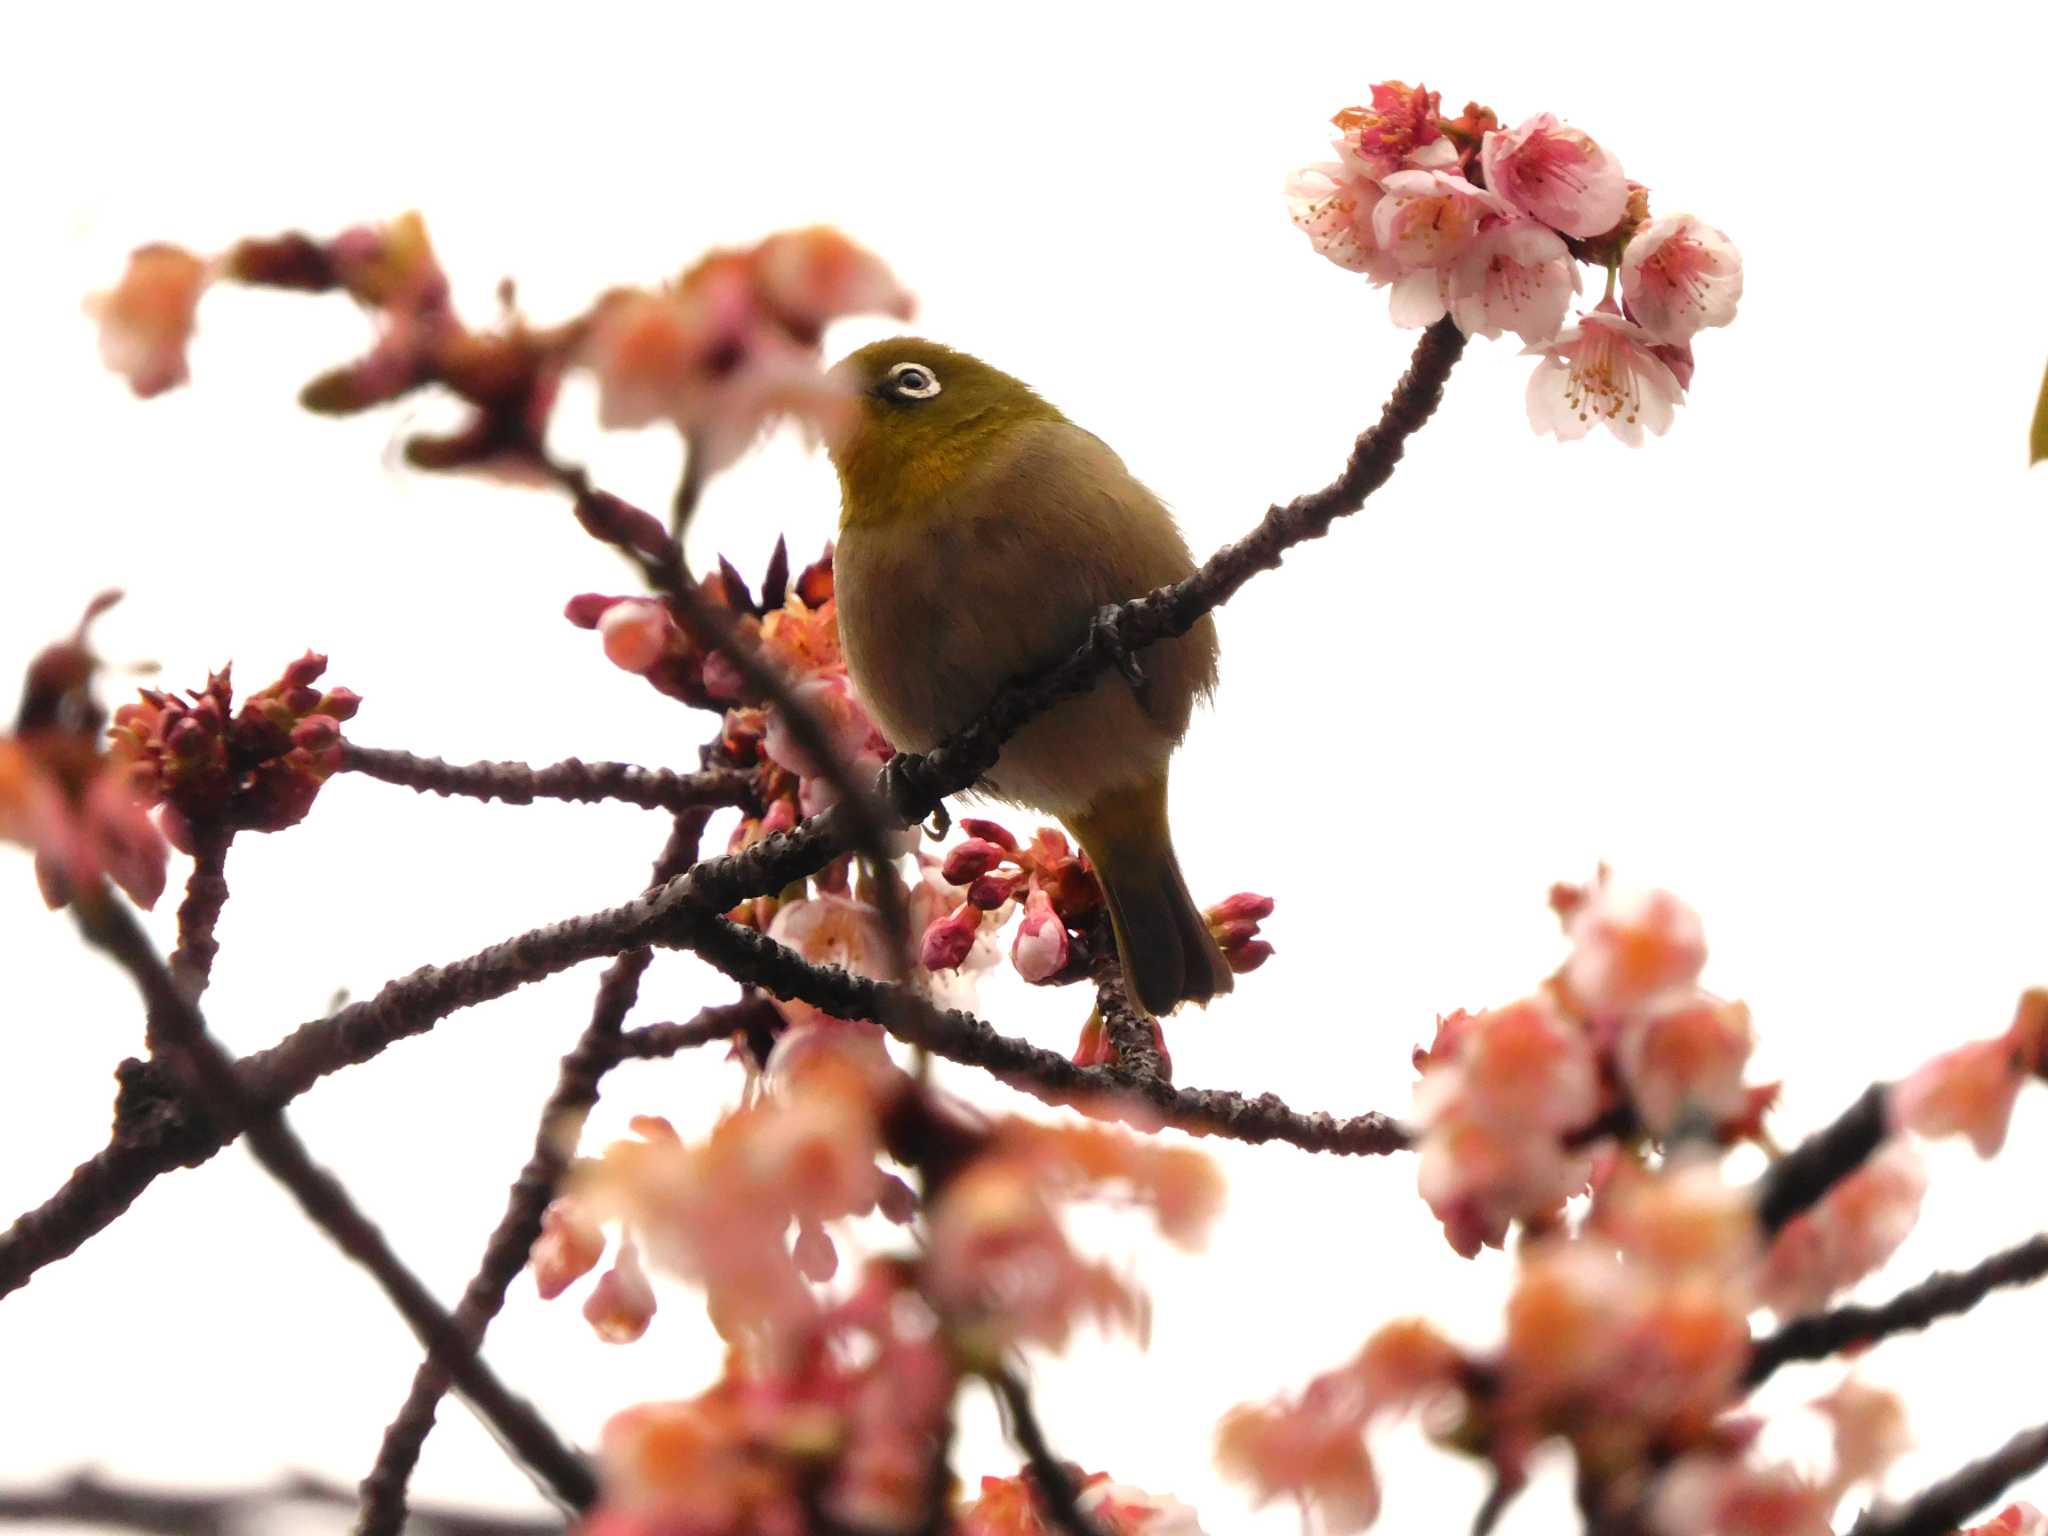
[[[279,1530],[287,1505],[315,1503],[346,1509],[354,1497],[315,1477],[287,1477],[270,1489],[246,1493],[172,1493],[104,1483],[94,1473],[55,1483],[45,1491],[0,1493],[0,1522],[55,1522],[150,1532],[152,1536],[240,1536]],[[561,1520],[516,1520],[422,1505],[412,1511],[410,1536],[561,1536]]]

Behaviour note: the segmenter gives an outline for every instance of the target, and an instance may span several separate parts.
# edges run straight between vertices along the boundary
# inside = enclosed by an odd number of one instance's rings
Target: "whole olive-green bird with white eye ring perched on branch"
[[[928,752],[995,690],[1083,643],[1096,614],[1194,571],[1171,514],[1008,373],[936,342],[838,365],[858,410],[834,436],[840,637],[874,723]],[[1217,629],[1137,657],[1018,731],[985,793],[1059,817],[1108,895],[1130,993],[1151,1014],[1231,989],[1167,831],[1167,758],[1217,682]]]

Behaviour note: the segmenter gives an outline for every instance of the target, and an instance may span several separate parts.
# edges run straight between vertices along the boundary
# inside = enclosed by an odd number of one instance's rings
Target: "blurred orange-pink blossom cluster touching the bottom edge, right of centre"
[[[1262,1501],[1294,1497],[1329,1530],[1364,1530],[1378,1513],[1368,1430],[1421,1409],[1440,1444],[1483,1456],[1507,1487],[1536,1446],[1563,1440],[1593,1513],[1819,1536],[1839,1499],[1905,1450],[1905,1415],[1847,1380],[1819,1405],[1835,1430],[1829,1477],[1755,1454],[1759,1423],[1731,1409],[1745,1393],[1759,1253],[1749,1192],[1712,1161],[1612,1161],[1577,1231],[1522,1249],[1495,1350],[1462,1350],[1415,1319],[1382,1327],[1298,1397],[1235,1409],[1221,1460]]]

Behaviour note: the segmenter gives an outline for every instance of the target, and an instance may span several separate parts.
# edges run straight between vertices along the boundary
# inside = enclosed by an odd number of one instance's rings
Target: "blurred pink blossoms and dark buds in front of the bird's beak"
[[[840,387],[819,358],[823,328],[854,313],[909,315],[889,270],[834,229],[793,229],[715,252],[662,289],[618,289],[584,315],[535,328],[502,289],[496,328],[473,330],[451,303],[426,223],[406,213],[332,240],[287,233],[238,242],[217,258],[143,246],[88,309],[100,356],[139,395],[184,383],[199,301],[215,281],[346,293],[373,319],[371,348],[311,379],[301,403],[322,414],[385,406],[424,385],[467,403],[449,434],[408,440],[420,469],[535,477],[561,377],[590,371],[606,426],[674,422],[709,473],[768,424],[825,424]]]

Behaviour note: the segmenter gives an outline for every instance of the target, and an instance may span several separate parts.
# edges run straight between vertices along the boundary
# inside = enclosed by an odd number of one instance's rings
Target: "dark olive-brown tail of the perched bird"
[[[1202,922],[1165,819],[1165,772],[1104,795],[1069,827],[1081,840],[1116,928],[1130,999],[1147,1014],[1206,1004],[1235,977]]]

